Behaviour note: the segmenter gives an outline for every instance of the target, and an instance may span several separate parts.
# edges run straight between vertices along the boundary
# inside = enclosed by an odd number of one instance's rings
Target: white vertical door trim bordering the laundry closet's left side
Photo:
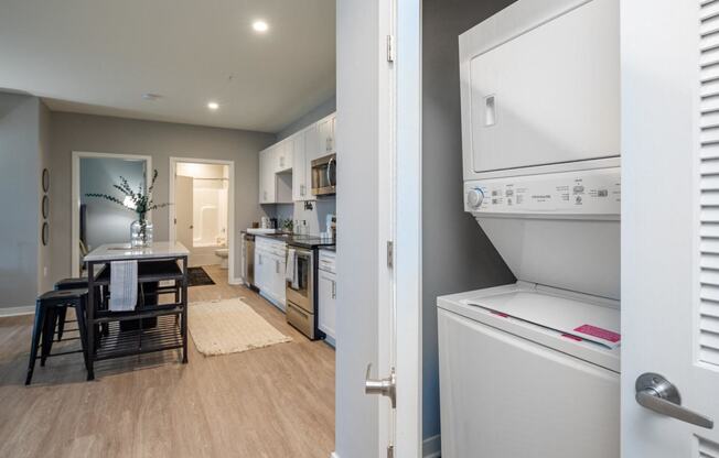
[[[395,456],[422,456],[421,1],[397,0],[395,116]]]

